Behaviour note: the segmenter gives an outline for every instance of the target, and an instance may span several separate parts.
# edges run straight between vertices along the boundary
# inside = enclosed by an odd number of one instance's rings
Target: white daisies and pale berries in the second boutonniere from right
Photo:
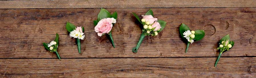
[[[188,40],[188,42],[190,42],[191,44],[194,42],[193,38],[195,38],[195,31],[190,32],[190,30],[188,30],[188,31],[185,31],[183,35],[184,35],[183,37],[185,37]]]

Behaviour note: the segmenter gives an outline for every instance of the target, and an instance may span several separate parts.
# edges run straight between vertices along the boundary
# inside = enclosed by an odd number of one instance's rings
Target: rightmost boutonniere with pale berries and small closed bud
[[[220,50],[220,54],[219,54],[219,57],[217,58],[217,60],[216,60],[216,62],[214,64],[214,67],[217,66],[217,63],[220,60],[221,54],[224,53],[225,51],[228,51],[229,49],[231,49],[234,46],[235,42],[234,41],[230,41],[229,34],[227,34],[226,36],[221,38],[219,44],[220,44],[220,46],[217,49]]]

